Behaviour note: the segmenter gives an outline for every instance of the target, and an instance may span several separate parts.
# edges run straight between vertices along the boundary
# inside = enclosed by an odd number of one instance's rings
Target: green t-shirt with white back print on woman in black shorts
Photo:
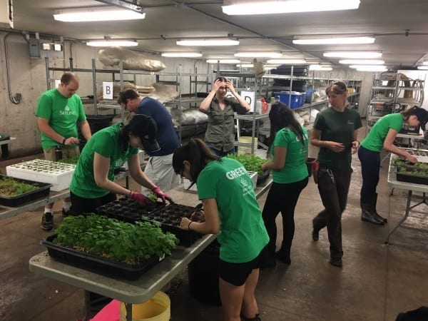
[[[200,200],[215,198],[220,216],[220,259],[254,260],[269,242],[253,183],[244,166],[231,158],[211,161],[197,180]]]

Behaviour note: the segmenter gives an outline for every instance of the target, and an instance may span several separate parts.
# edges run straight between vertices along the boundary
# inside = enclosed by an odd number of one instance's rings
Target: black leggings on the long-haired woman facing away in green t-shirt
[[[295,183],[272,183],[272,187],[267,194],[265,207],[263,208],[263,221],[269,243],[267,245],[267,255],[275,255],[277,228],[275,218],[278,213],[282,215],[282,247],[283,251],[290,251],[292,238],[295,232],[294,211],[300,192],[307,185],[308,178]]]

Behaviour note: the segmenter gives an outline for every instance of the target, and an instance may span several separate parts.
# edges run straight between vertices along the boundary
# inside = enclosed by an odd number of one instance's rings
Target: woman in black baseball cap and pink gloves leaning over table
[[[116,123],[96,132],[86,143],[70,183],[71,210],[74,215],[96,213],[96,208],[125,195],[138,203],[150,202],[145,195],[114,183],[114,170],[128,162],[131,177],[162,198],[170,197],[143,173],[138,161],[138,148],[158,151],[158,128],[153,118],[135,115],[128,125]]]

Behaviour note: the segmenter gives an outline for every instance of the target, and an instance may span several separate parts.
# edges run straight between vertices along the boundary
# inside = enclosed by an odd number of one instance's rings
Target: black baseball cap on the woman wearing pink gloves
[[[129,131],[138,136],[143,147],[148,152],[156,152],[161,149],[156,139],[158,126],[151,116],[137,114],[129,122]]]

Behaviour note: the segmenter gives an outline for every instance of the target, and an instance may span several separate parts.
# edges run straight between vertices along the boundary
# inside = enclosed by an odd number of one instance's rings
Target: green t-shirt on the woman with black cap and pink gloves
[[[78,158],[76,169],[70,183],[70,190],[73,194],[81,198],[101,198],[107,195],[108,190],[99,188],[93,176],[93,155],[98,153],[101,156],[110,158],[110,168],[108,168],[108,179],[114,180],[114,170],[120,168],[128,161],[131,154],[138,153],[138,148],[128,146],[126,151],[121,147],[121,126],[123,123],[116,123],[113,126],[97,131],[86,143]]]

